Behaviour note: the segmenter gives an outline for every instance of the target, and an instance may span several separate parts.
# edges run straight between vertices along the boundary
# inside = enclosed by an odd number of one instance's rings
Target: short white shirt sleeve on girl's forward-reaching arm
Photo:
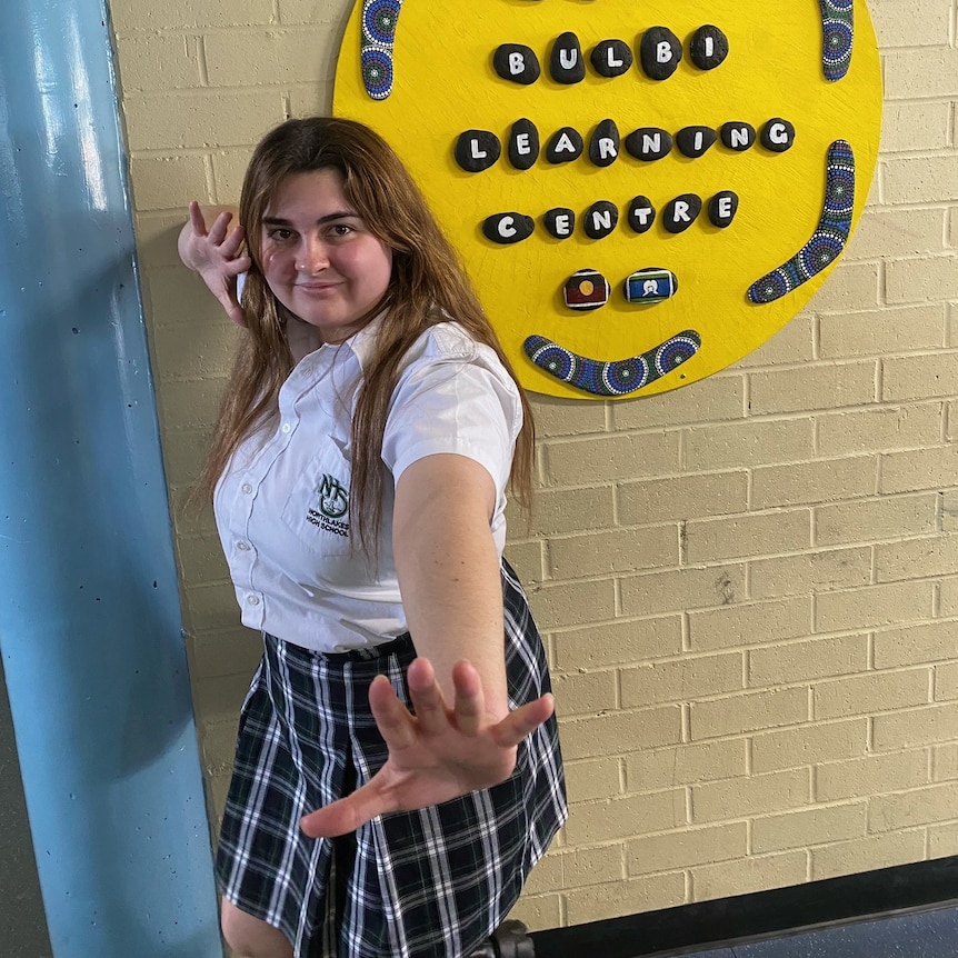
[[[489,472],[501,498],[522,425],[518,388],[493,350],[443,327],[411,350],[393,392],[382,460],[398,482],[427,456],[466,456]]]

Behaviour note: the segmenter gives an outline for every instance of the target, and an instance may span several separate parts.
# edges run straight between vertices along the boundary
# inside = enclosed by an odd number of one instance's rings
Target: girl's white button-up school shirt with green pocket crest
[[[455,322],[431,327],[403,360],[382,461],[379,563],[349,553],[351,423],[378,322],[303,357],[278,416],[236,450],[213,497],[243,625],[318,651],[389,641],[407,631],[392,556],[395,482],[438,452],[476,460],[496,485],[492,537],[506,541],[506,486],[522,423],[517,387],[493,350]]]

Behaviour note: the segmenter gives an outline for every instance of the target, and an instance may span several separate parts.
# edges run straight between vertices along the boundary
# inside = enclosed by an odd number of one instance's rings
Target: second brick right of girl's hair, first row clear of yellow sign
[[[688,430],[686,468],[700,471],[795,462],[810,458],[812,451],[811,419],[720,423]]]

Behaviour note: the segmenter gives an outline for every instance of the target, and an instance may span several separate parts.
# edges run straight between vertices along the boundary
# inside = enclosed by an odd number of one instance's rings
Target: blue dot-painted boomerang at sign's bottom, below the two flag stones
[[[526,356],[539,369],[592,396],[627,396],[678,369],[701,348],[693,329],[673,336],[641,356],[602,361],[580,356],[545,336],[522,343]]]

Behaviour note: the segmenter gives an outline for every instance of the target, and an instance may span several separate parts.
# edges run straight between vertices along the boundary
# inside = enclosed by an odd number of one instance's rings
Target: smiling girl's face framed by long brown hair
[[[370,319],[392,276],[392,250],[343,196],[339,170],[291,173],[262,220],[262,269],[273,296],[323,342]]]

